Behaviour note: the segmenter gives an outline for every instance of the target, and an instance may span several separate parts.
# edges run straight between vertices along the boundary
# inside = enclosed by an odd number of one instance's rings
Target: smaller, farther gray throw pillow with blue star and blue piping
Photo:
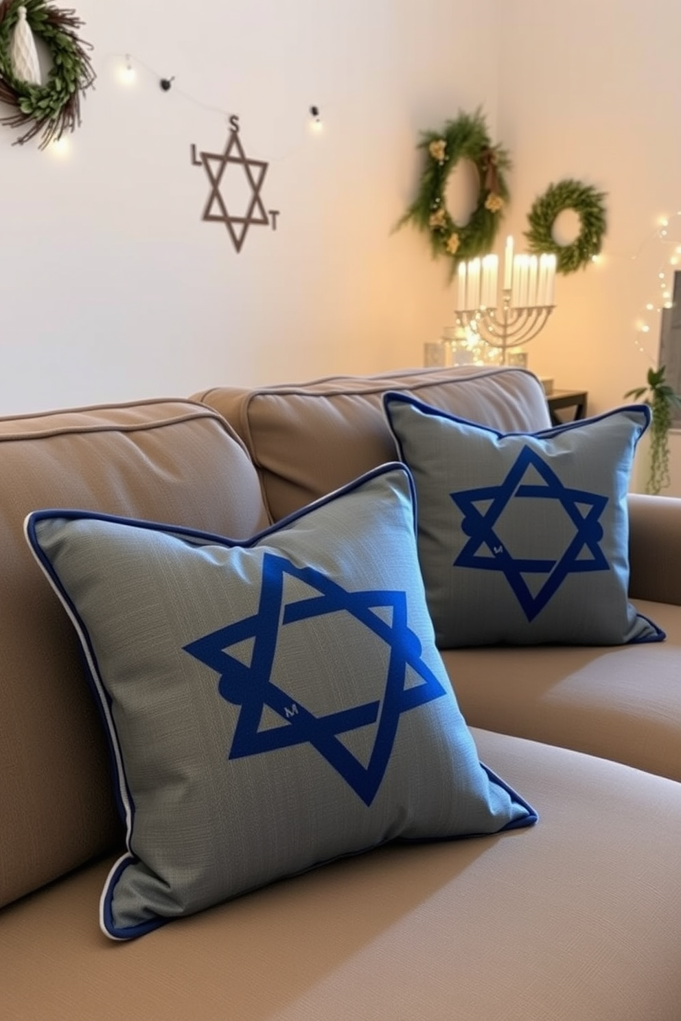
[[[645,405],[508,434],[406,394],[384,405],[414,476],[440,648],[665,638],[628,599],[627,491]]]

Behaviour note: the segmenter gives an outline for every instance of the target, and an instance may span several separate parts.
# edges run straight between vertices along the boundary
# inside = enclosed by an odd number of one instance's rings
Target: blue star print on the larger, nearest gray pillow
[[[318,593],[284,604],[285,576],[297,578]],[[391,622],[376,611],[388,607]],[[390,652],[383,698],[314,716],[271,680],[280,629],[314,617],[344,611],[354,617]],[[228,651],[230,646],[254,639],[250,665]],[[392,753],[399,718],[445,694],[445,689],[422,659],[418,636],[406,624],[406,594],[400,591],[348,592],[313,568],[298,568],[283,556],[265,552],[257,613],[220,628],[184,646],[221,675],[220,694],[240,707],[230,748],[230,759],[261,755],[296,744],[309,743],[370,806],[374,800]],[[405,687],[407,667],[422,684]],[[260,730],[264,709],[282,719],[281,726]],[[338,735],[376,724],[376,737],[369,765],[363,766],[339,740]]]

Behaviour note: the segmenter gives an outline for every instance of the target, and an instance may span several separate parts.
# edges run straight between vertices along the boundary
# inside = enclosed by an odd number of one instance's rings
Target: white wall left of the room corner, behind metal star
[[[494,0],[75,6],[98,80],[68,153],[0,128],[0,414],[420,364],[446,268],[391,228],[420,131],[478,105],[494,130]],[[229,113],[281,210],[241,254],[190,161]]]

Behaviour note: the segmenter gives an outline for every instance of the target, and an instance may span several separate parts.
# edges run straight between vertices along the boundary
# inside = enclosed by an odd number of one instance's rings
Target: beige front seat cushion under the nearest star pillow
[[[99,931],[109,862],[0,914],[12,1021],[678,1021],[681,785],[474,731],[532,830],[390,846],[134,943]]]

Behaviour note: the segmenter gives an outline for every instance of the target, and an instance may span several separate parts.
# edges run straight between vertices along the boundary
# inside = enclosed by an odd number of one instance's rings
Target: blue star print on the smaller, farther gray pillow
[[[532,469],[541,476],[543,484],[523,482],[526,473]],[[450,495],[464,515],[461,529],[470,536],[454,561],[454,567],[500,571],[505,575],[530,623],[550,601],[569,574],[610,570],[599,546],[603,531],[598,523],[607,497],[565,486],[555,472],[529,446],[523,447],[498,486],[483,486]],[[575,535],[558,560],[516,560],[503,545],[495,532],[495,526],[510,500],[517,498],[557,500],[564,507],[575,526]],[[479,509],[477,503],[485,504],[486,509]],[[480,551],[485,547],[488,553],[484,555]],[[585,551],[590,553],[590,558],[585,557]],[[523,577],[530,574],[546,575],[544,584],[534,595]]]

